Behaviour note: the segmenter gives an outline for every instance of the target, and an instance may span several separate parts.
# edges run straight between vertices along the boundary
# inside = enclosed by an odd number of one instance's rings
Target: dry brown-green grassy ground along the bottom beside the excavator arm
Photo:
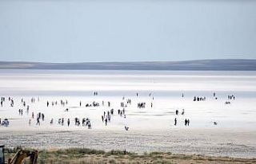
[[[6,150],[6,159],[14,155],[15,150]],[[256,158],[210,157],[153,152],[135,154],[121,150],[59,149],[40,150],[38,163],[256,163]]]

